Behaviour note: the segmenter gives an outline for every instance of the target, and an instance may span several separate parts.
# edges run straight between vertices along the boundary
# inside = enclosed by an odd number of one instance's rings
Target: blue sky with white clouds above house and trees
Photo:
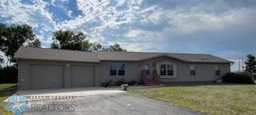
[[[256,54],[255,21],[255,0],[0,1],[0,22],[32,26],[43,47],[62,29],[129,51],[214,54],[238,62]]]

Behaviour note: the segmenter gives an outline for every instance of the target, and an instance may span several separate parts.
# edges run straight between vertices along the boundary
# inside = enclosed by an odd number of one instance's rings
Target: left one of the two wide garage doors
[[[30,65],[30,89],[63,88],[63,65]]]

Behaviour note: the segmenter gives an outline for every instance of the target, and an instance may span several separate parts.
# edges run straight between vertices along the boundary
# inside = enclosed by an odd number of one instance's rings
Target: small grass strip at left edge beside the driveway
[[[0,114],[1,115],[12,115],[9,111],[5,109],[2,101],[14,93],[17,89],[17,84],[0,84]]]

